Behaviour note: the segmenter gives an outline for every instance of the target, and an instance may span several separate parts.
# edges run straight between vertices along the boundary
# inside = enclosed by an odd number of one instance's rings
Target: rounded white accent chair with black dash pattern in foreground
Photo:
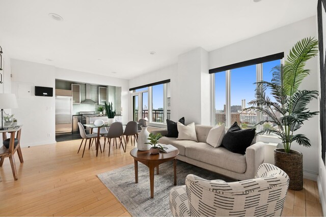
[[[257,178],[225,182],[187,175],[185,185],[170,191],[173,216],[281,216],[288,175],[261,164]]]

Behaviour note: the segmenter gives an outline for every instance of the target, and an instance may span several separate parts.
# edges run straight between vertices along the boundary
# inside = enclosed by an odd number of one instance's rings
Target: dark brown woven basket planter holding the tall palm
[[[300,191],[304,187],[303,155],[299,151],[290,150],[285,153],[283,148],[274,150],[275,166],[282,169],[290,178],[289,189]]]

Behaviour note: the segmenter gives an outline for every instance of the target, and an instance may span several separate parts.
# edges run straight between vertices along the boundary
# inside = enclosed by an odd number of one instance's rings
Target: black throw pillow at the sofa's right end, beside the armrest
[[[245,154],[255,134],[255,128],[241,130],[238,123],[234,122],[223,137],[222,145],[233,153]]]

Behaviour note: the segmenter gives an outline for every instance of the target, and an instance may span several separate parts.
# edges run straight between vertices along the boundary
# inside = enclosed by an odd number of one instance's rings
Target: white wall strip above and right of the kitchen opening
[[[102,75],[95,75],[91,73],[79,72],[79,71],[68,70],[68,69],[61,69],[61,68],[55,69],[55,75],[56,75],[56,79],[82,82],[82,83],[87,82],[87,83],[99,84],[99,85],[121,86],[121,107],[123,108],[121,112],[122,121],[127,122],[129,120],[128,80],[102,76]]]

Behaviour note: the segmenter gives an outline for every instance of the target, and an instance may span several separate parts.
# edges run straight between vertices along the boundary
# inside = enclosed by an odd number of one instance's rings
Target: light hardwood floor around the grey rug
[[[14,181],[9,160],[0,168],[1,216],[130,216],[97,178],[97,174],[133,164],[126,153],[108,146],[95,157],[95,147],[77,154],[81,140],[22,148],[24,163],[16,161]],[[103,143],[103,140],[101,140]],[[82,146],[83,148],[83,146]],[[18,156],[15,156],[18,159]],[[322,216],[317,183],[305,180],[303,191],[289,191],[284,216]]]

